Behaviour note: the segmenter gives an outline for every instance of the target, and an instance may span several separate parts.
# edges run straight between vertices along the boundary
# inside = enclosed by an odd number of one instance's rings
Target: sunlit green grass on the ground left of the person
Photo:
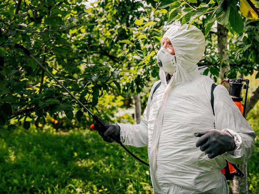
[[[152,193],[148,167],[89,130],[3,132],[0,181],[0,193]]]

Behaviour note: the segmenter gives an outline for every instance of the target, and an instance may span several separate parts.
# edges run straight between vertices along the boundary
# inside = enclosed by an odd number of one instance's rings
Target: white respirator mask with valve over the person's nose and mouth
[[[170,54],[165,47],[161,47],[157,53],[157,65],[172,75],[176,71],[176,57]]]

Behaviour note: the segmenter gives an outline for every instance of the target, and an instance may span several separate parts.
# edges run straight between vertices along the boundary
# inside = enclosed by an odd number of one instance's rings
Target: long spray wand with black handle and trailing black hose
[[[73,99],[75,99],[77,101],[77,103],[79,103],[79,105],[81,107],[83,107],[95,120],[95,124],[91,125],[90,128],[92,130],[94,130],[94,128],[98,129],[98,131],[100,132],[105,132],[109,127],[96,115],[94,115],[89,109],[87,109],[87,107],[85,107],[85,105],[83,105],[83,103],[81,103],[66,87],[64,87],[64,85],[62,83],[60,83],[57,78],[54,77],[54,75],[52,73],[50,73],[37,59],[35,59],[35,57],[33,55],[31,55],[30,51],[28,49],[26,49],[24,46],[19,45],[19,44],[14,44],[14,48],[16,49],[22,49],[23,52],[28,55],[29,57],[31,57],[39,66],[41,66],[41,68],[47,73],[49,74],[49,76],[51,76]],[[121,145],[121,147],[123,147],[131,156],[133,156],[136,160],[142,162],[143,164],[145,164],[146,166],[149,166],[149,164],[147,164],[146,162],[144,162],[143,160],[141,160],[140,158],[138,158],[136,155],[134,155],[132,152],[130,152],[120,141],[120,139],[118,139],[117,137],[115,137],[115,135],[113,135],[112,133],[109,135],[112,139],[115,139],[115,141],[117,143],[119,143]]]

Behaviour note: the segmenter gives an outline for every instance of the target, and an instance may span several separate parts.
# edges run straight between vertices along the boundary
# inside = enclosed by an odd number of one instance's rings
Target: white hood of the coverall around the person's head
[[[176,72],[172,77],[172,83],[180,84],[189,82],[199,75],[197,63],[205,51],[205,37],[196,26],[188,24],[176,24],[170,27],[163,38],[170,39],[176,56]],[[162,39],[161,39],[162,40]],[[166,82],[167,72],[159,70],[159,76],[163,85]]]

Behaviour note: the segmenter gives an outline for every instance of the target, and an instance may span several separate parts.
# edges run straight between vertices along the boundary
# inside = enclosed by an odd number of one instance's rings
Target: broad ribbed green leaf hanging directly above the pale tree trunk
[[[225,7],[227,6],[227,7]],[[216,9],[216,18],[217,22],[223,26],[226,26],[229,19],[230,14],[230,5],[225,5],[223,3],[220,3]]]

